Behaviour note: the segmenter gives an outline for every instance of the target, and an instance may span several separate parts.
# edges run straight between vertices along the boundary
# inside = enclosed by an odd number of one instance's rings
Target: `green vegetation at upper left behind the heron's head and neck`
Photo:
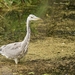
[[[9,42],[23,40],[26,32],[25,22],[27,16],[29,14],[35,14],[39,17],[43,16],[46,11],[44,8],[47,7],[47,2],[45,3],[45,6],[44,3],[45,0],[44,2],[40,0],[0,0],[1,39],[9,40]],[[38,14],[42,8],[43,11]],[[34,26],[31,27],[31,30],[33,35],[35,35],[36,30]]]

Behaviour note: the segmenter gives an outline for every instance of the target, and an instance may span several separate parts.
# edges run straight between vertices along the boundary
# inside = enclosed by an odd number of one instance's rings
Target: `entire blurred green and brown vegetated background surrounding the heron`
[[[0,0],[0,45],[22,41],[29,14],[28,54],[15,65],[0,56],[0,75],[75,75],[75,0]]]

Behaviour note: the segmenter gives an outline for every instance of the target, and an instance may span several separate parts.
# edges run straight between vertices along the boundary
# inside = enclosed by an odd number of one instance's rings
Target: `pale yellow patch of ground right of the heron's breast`
[[[45,38],[45,40],[37,40],[30,43],[29,52],[26,56],[27,60],[37,59],[58,59],[64,56],[75,54],[75,43],[63,38]]]

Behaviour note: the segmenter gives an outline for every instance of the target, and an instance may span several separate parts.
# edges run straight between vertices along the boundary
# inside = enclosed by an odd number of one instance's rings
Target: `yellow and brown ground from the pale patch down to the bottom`
[[[74,45],[75,41],[54,37],[30,42],[27,55],[20,60],[18,65],[0,56],[0,73],[1,75],[3,73],[13,75],[75,74]]]

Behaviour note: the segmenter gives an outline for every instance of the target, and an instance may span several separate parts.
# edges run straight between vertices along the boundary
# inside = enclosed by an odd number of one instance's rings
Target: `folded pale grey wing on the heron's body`
[[[0,49],[2,52],[1,54],[12,58],[13,56],[17,56],[22,51],[21,50],[21,42],[3,45]]]

